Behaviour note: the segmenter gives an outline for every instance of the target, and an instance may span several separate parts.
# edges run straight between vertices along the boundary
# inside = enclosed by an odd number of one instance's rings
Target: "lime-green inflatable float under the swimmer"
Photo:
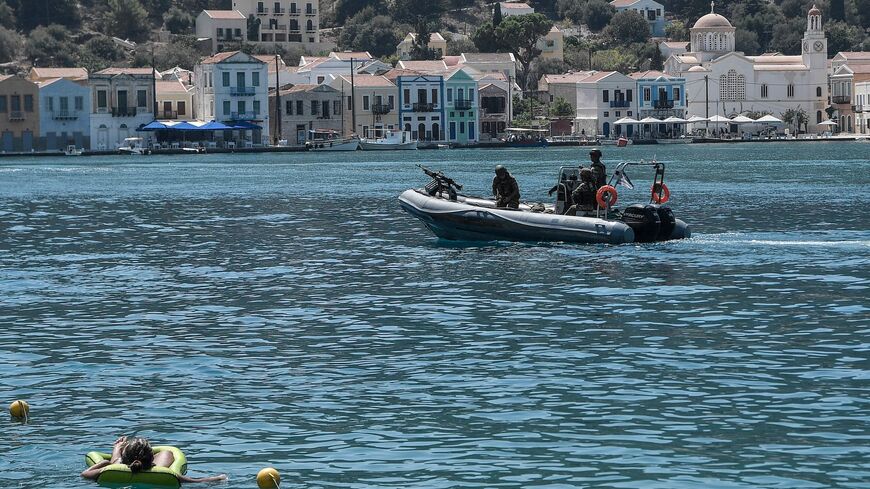
[[[184,452],[175,447],[159,446],[152,447],[154,454],[163,451],[172,452],[172,465],[169,467],[153,467],[150,470],[136,472],[130,470],[130,467],[124,464],[112,464],[103,467],[100,475],[97,476],[97,483],[100,485],[153,485],[161,487],[181,487],[179,477],[187,472],[187,458]],[[103,460],[111,460],[112,456],[108,453],[90,452],[85,455],[85,464],[91,467]]]

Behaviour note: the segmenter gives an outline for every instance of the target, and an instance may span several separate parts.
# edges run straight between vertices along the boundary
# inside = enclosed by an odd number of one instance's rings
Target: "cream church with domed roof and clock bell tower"
[[[799,56],[746,56],[735,51],[734,26],[713,7],[711,3],[710,13],[690,29],[690,52],[674,54],[665,63],[665,73],[686,79],[687,114],[732,117],[751,112],[782,118],[788,109],[804,109],[807,131],[824,131],[818,125],[827,119],[828,106],[822,12],[813,6],[807,13]]]

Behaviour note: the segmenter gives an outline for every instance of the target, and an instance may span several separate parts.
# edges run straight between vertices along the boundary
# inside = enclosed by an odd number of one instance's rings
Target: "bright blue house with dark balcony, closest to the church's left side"
[[[637,119],[647,117],[665,120],[668,117],[686,117],[686,79],[670,76],[661,71],[632,73],[637,80]],[[655,127],[652,127],[655,126]],[[644,124],[643,133],[670,134],[683,132],[680,124]]]

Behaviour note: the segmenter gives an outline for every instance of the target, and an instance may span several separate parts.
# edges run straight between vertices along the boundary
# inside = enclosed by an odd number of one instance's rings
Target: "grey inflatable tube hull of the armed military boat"
[[[449,240],[634,242],[634,231],[619,221],[497,208],[490,200],[463,196],[450,201],[413,189],[403,192],[399,203],[436,236]]]

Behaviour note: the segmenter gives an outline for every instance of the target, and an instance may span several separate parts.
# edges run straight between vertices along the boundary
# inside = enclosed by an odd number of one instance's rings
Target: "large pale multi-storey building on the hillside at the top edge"
[[[257,23],[249,32],[256,44],[284,48],[302,47],[306,52],[329,50],[320,42],[320,9],[316,0],[233,0],[232,8]]]

